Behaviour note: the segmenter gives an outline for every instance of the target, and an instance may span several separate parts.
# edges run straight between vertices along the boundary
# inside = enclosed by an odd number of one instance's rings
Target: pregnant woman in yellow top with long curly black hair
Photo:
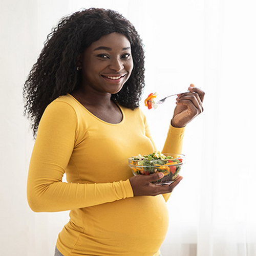
[[[127,159],[157,150],[139,108],[144,51],[134,26],[112,10],[62,18],[24,87],[35,144],[27,194],[33,211],[70,210],[55,255],[158,256],[171,185],[133,176]],[[181,153],[185,125],[204,92],[178,95],[163,152]],[[62,182],[66,173],[67,182]]]

